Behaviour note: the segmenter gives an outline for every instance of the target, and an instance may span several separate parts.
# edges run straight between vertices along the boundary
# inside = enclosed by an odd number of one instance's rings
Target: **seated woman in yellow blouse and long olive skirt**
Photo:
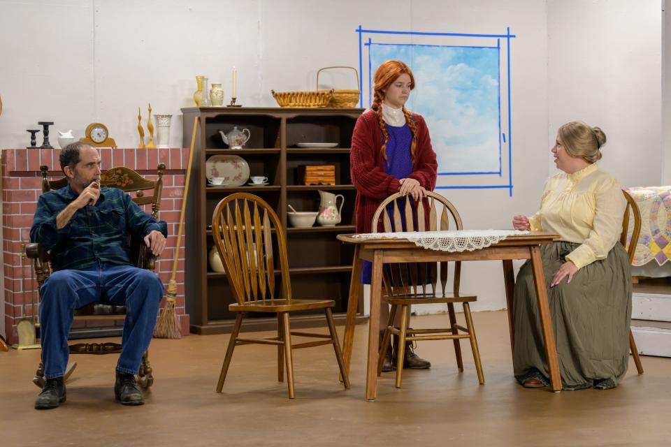
[[[515,216],[517,230],[543,230],[559,240],[542,249],[562,387],[614,388],[627,371],[631,275],[617,242],[626,200],[597,166],[606,135],[582,122],[564,124],[552,148],[559,173],[547,179],[540,210]],[[549,372],[531,264],[514,291],[514,374],[527,388],[547,386]]]

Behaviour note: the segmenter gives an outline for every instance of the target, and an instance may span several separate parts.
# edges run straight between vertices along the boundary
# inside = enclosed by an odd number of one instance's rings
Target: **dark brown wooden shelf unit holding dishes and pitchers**
[[[336,302],[336,319],[347,311],[354,249],[341,244],[338,233],[354,233],[356,189],[349,177],[352,131],[362,109],[331,108],[184,108],[182,144],[189,147],[194,117],[199,117],[185,244],[186,307],[191,330],[199,334],[230,332],[235,315],[228,307],[234,301],[225,272],[215,272],[208,262],[212,249],[212,212],[222,198],[246,191],[260,196],[277,212],[287,234],[289,273],[294,298],[329,298]],[[243,149],[228,149],[219,135],[237,126],[249,129]],[[338,147],[297,147],[299,142],[337,142]],[[206,162],[211,156],[242,157],[249,175],[268,177],[267,184],[207,186]],[[329,181],[305,184],[301,166],[331,166]],[[246,172],[246,171],[245,171]],[[322,169],[322,172],[325,172]],[[327,184],[324,184],[327,183]],[[345,198],[342,220],[336,226],[287,228],[287,205],[297,210],[319,210],[319,193],[331,191]],[[279,277],[278,277],[279,278]],[[279,283],[279,281],[277,281]],[[276,284],[279,291],[279,284]],[[363,305],[359,305],[363,309]],[[357,318],[363,319],[359,315]],[[292,327],[322,325],[319,314],[291,317]],[[275,329],[276,318],[247,318],[243,330]]]

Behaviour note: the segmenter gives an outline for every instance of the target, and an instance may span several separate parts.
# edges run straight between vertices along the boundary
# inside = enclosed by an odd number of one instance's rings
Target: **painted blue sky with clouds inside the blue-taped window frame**
[[[416,87],[407,108],[426,119],[438,173],[500,173],[500,75],[497,47],[375,44],[373,73],[404,61]]]

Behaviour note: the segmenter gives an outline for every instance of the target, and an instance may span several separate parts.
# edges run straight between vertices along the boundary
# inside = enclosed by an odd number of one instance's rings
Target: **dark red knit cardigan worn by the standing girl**
[[[433,191],[438,175],[438,162],[435,161],[435,152],[431,147],[431,137],[421,115],[413,113],[412,119],[417,126],[417,147],[413,170],[408,177],[416,179],[426,191]],[[397,193],[401,187],[399,179],[384,172],[384,160],[380,154],[382,138],[380,124],[373,110],[368,110],[356,120],[352,134],[352,152],[349,156],[350,175],[357,191],[356,233],[371,233],[370,221],[375,210],[382,200]]]

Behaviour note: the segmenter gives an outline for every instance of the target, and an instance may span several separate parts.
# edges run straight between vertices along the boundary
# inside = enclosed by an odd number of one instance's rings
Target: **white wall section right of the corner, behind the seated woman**
[[[625,187],[662,181],[661,30],[659,0],[547,1],[548,140],[600,126],[600,165]]]

